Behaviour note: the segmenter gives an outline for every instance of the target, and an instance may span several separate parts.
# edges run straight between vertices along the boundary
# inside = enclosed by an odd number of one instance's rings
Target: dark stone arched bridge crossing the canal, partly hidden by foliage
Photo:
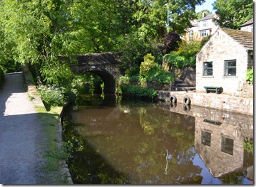
[[[60,57],[61,60],[65,58]],[[119,53],[114,52],[76,55],[77,62],[71,62],[70,67],[76,74],[91,72],[98,75],[104,82],[104,93],[114,93],[116,92],[116,80],[121,76],[118,70],[118,65],[121,64],[119,58]]]

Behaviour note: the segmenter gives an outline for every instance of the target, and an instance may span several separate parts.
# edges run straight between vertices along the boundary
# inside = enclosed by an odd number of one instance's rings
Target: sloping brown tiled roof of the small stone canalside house
[[[239,31],[230,28],[221,28],[221,30],[247,50],[253,50],[253,32]]]

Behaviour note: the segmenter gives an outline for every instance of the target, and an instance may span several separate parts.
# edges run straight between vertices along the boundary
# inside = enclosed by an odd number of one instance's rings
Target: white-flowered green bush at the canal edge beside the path
[[[39,85],[38,91],[46,107],[63,106],[65,104],[63,90],[56,85]]]

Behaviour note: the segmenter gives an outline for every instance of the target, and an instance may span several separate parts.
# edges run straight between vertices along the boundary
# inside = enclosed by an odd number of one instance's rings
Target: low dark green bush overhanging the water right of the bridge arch
[[[120,85],[122,92],[125,95],[139,97],[142,99],[150,98],[153,100],[158,95],[158,92],[148,87],[140,87],[139,85]]]

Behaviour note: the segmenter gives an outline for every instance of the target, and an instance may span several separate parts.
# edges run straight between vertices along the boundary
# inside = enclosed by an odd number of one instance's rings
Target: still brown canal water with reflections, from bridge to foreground
[[[252,116],[112,96],[78,104],[63,119],[73,183],[253,183]]]

